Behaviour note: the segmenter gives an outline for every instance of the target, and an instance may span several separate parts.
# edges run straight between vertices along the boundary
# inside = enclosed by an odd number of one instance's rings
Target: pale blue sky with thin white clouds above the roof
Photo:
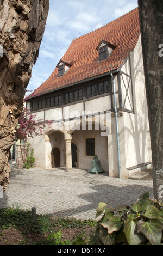
[[[106,25],[137,6],[137,0],[49,0],[39,58],[33,66],[27,90],[35,90],[47,80],[73,39]]]

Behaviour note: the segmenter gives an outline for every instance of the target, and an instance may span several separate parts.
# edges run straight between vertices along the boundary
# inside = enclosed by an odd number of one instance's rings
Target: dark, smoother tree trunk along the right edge
[[[158,0],[139,0],[143,61],[153,162],[154,197],[163,197],[163,3]],[[162,45],[163,46],[163,45]]]

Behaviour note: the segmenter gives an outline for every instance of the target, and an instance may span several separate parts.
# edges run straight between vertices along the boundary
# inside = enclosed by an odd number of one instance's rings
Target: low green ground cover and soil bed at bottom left
[[[0,209],[0,245],[71,245],[84,230],[93,233],[96,222],[75,218],[52,218],[20,209]]]

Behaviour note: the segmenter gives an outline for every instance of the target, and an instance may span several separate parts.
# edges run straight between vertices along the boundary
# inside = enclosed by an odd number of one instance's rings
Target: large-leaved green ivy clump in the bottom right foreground
[[[143,193],[131,207],[100,202],[95,235],[80,234],[73,245],[163,245],[163,204]]]

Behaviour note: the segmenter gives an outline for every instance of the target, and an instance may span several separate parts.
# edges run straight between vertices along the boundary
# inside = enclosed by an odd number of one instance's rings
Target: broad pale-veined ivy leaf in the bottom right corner
[[[152,245],[160,245],[162,229],[163,223],[158,220],[153,220],[150,222],[139,220],[137,222],[137,231],[144,234]]]

